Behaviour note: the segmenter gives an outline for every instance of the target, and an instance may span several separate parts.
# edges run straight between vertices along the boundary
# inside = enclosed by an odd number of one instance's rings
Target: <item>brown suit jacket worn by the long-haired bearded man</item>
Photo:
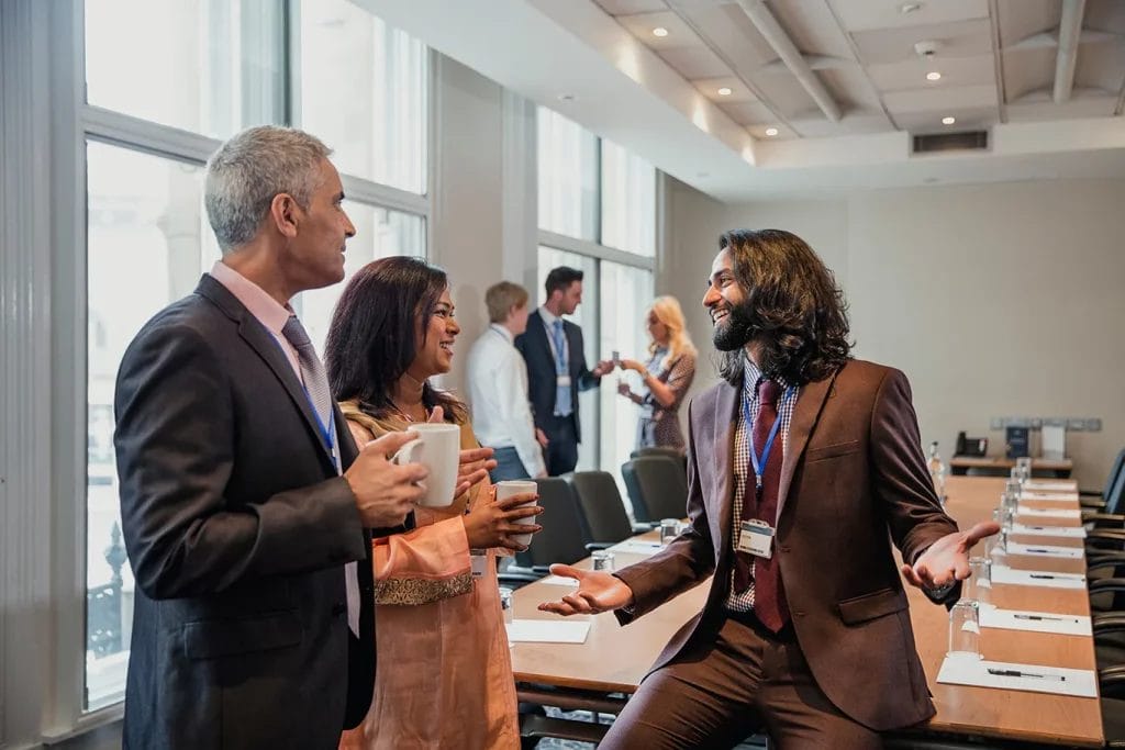
[[[704,609],[673,636],[659,668],[714,638],[729,591],[739,388],[721,382],[688,407],[687,531],[618,575],[636,606],[623,624],[712,572]],[[777,536],[796,640],[828,698],[876,731],[934,715],[891,542],[914,561],[956,531],[922,459],[910,386],[898,370],[850,361],[801,389],[782,462]]]

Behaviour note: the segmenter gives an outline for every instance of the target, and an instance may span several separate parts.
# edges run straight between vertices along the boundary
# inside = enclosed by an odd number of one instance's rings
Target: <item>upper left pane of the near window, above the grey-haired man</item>
[[[284,3],[87,0],[87,101],[225,138],[285,112]]]

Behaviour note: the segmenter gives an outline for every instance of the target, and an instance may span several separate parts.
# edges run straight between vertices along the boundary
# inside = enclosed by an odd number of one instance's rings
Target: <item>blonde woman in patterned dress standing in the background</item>
[[[695,346],[684,326],[684,313],[675,297],[657,297],[647,317],[649,359],[621,360],[622,370],[640,374],[648,389],[634,394],[628,383],[618,386],[618,392],[641,407],[637,425],[637,448],[675,448],[684,450],[684,434],[680,430],[680,404],[695,378]]]

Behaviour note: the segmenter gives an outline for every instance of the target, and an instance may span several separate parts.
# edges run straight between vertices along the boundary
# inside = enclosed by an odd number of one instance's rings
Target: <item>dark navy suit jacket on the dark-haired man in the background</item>
[[[583,349],[582,328],[562,322],[562,335],[570,349],[570,403],[574,404],[574,428],[582,442],[582,423],[578,419],[578,391],[597,388],[601,378],[586,367],[586,352]],[[543,316],[536,310],[528,316],[528,329],[515,337],[515,347],[523,354],[528,363],[528,399],[536,417],[536,426],[544,428],[543,419],[555,414],[555,354],[547,341],[547,328],[543,327]]]

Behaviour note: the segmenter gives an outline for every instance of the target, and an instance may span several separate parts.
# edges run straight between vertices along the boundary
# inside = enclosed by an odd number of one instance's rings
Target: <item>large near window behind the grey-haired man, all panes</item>
[[[144,322],[219,257],[202,208],[207,156],[263,123],[303,127],[334,148],[357,228],[350,277],[376,257],[426,254],[430,107],[425,47],[345,0],[87,0],[84,15],[84,707],[93,710],[123,696],[134,593],[114,383]],[[123,29],[134,29],[127,44]],[[341,289],[292,301],[318,346]]]

